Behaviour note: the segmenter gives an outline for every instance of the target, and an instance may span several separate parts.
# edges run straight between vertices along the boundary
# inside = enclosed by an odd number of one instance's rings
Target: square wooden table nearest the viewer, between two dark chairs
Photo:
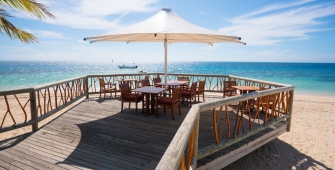
[[[151,113],[155,113],[155,100],[156,97],[158,96],[159,93],[163,92],[165,89],[164,88],[157,88],[157,87],[141,87],[132,90],[133,92],[140,92],[145,95],[145,100],[146,100],[146,115],[149,114],[149,101],[151,101]],[[151,96],[151,100],[150,100]],[[157,117],[158,115],[156,115]]]

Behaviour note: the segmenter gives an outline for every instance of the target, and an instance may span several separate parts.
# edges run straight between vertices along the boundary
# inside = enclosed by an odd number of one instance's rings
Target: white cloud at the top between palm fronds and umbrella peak
[[[82,29],[116,29],[122,27],[120,19],[129,12],[151,12],[157,0],[42,0],[41,3],[56,16],[55,20],[43,22]],[[36,19],[30,15],[16,12],[16,17]],[[114,18],[114,19],[111,19]]]

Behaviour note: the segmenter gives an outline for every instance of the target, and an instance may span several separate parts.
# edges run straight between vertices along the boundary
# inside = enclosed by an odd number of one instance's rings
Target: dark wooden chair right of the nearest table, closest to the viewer
[[[178,106],[179,115],[180,114],[180,97],[181,97],[181,87],[174,88],[172,90],[172,97],[159,97],[156,100],[156,115],[159,114],[158,106],[164,107],[164,113],[166,112],[166,107],[171,108],[172,120],[174,120],[173,110]]]

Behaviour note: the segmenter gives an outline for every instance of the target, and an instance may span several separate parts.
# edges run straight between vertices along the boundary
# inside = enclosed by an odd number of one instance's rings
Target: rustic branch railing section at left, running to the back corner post
[[[0,133],[32,125],[87,95],[86,76],[39,87],[0,91]],[[19,107],[17,107],[19,106]]]

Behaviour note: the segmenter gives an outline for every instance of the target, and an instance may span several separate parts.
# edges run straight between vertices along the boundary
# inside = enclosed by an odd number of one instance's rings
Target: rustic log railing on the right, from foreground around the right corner
[[[197,160],[237,143],[281,121],[287,122],[287,131],[290,131],[294,86],[236,76],[229,76],[228,79],[236,80],[238,85],[242,86],[252,85],[271,89],[193,105],[156,169],[195,169]],[[270,103],[265,102],[266,106],[263,106],[263,108],[265,107],[266,110],[264,110],[265,116],[262,120],[260,120],[259,110],[256,111],[254,117],[250,115],[249,107],[247,108],[248,113],[243,113],[243,103],[248,105],[248,102],[254,99],[257,99],[258,102],[262,102],[262,99],[269,99],[270,97],[274,97],[271,108]],[[233,108],[233,105],[237,105],[236,109],[232,109],[233,112],[235,112],[236,122],[233,134],[230,134],[232,127],[230,126],[231,118],[228,114],[228,107]],[[240,109],[241,106],[243,109]],[[260,107],[257,106],[257,108],[259,109]],[[213,114],[214,140],[212,145],[198,150],[200,115],[201,112],[208,110],[212,110]],[[222,122],[219,122],[219,117],[223,113],[225,114],[225,118]],[[247,130],[245,130],[243,126],[244,119],[248,119],[249,128]],[[254,124],[255,122],[258,124],[257,126]],[[242,130],[240,129],[241,125]],[[226,137],[223,137],[224,130],[226,131],[225,134],[227,134]],[[188,149],[186,150],[186,148]]]

